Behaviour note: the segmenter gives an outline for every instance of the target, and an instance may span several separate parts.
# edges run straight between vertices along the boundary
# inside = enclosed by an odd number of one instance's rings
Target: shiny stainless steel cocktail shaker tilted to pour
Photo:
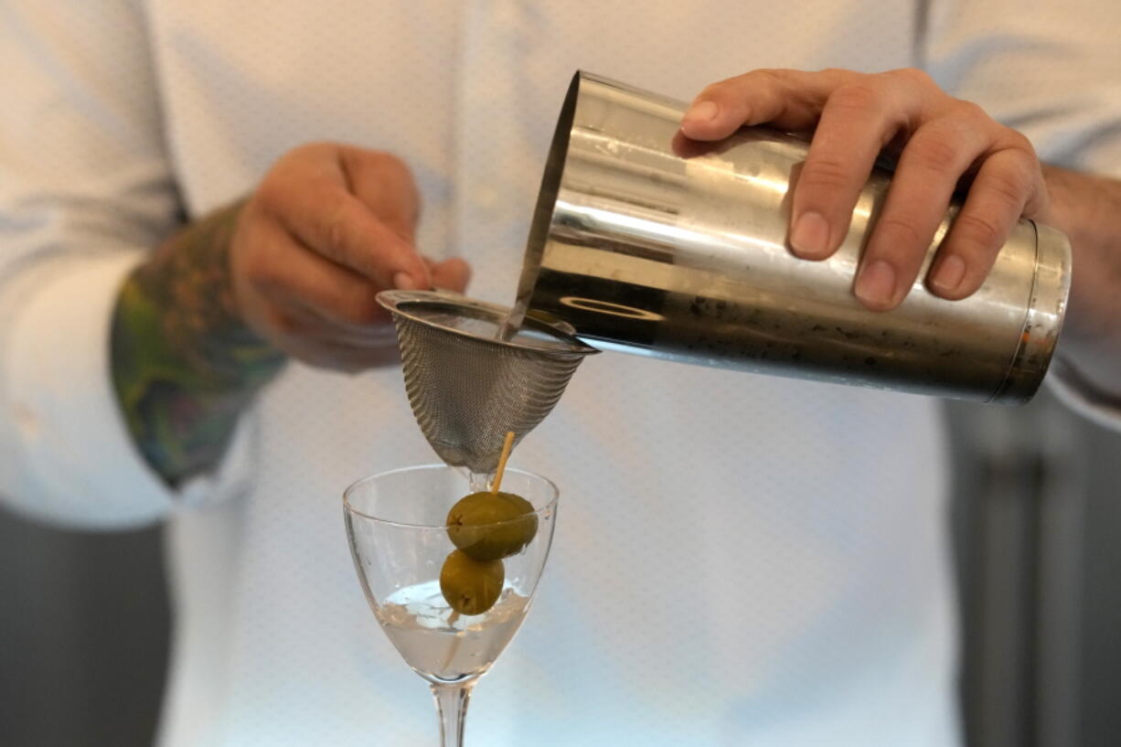
[[[790,253],[790,187],[808,142],[744,128],[719,144],[678,133],[685,104],[577,73],[560,111],[519,283],[531,315],[592,345],[647,356],[981,402],[1027,402],[1066,306],[1066,238],[1021,220],[964,301],[920,279],[897,310],[865,310],[852,283],[887,193],[878,169],[841,249]]]

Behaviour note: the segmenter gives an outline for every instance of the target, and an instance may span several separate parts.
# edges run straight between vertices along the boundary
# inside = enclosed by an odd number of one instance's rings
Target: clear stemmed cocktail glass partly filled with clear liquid
[[[537,533],[501,561],[504,580],[498,601],[480,615],[453,610],[439,587],[444,560],[455,550],[447,536],[447,511],[471,492],[461,472],[445,464],[408,467],[359,480],[343,494],[362,590],[389,640],[430,685],[443,747],[462,747],[471,690],[521,627],[553,542],[556,486],[507,469],[502,491],[530,502]],[[481,528],[500,531],[508,524]]]

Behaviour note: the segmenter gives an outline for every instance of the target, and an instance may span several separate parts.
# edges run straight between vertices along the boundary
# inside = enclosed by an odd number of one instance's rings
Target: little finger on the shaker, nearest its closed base
[[[1031,204],[1041,212],[1047,190],[1032,155],[994,153],[981,165],[928,275],[930,289],[957,301],[976,292],[992,270],[1016,221]]]

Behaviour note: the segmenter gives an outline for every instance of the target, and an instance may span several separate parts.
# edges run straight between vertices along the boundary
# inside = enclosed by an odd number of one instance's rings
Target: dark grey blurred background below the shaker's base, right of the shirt
[[[970,747],[1121,735],[1121,434],[1045,389],[946,406]]]

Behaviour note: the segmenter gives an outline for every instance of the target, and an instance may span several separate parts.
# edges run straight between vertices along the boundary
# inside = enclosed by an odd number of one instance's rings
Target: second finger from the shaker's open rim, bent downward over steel
[[[825,259],[836,251],[880,150],[919,105],[914,89],[886,76],[863,76],[833,91],[794,185],[794,253]]]

